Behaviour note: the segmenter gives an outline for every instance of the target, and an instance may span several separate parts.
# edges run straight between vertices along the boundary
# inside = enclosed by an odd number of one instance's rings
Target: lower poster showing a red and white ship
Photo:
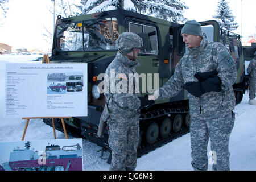
[[[82,171],[82,139],[0,142],[0,171]]]

